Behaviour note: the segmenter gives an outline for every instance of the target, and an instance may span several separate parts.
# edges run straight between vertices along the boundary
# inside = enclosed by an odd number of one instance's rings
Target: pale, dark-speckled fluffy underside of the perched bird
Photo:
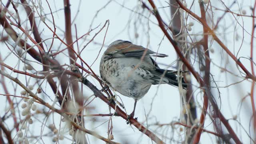
[[[129,59],[132,60],[132,58]],[[126,59],[114,58],[102,62],[100,74],[114,90],[135,99],[142,98],[152,84],[147,70],[135,68],[134,63]]]

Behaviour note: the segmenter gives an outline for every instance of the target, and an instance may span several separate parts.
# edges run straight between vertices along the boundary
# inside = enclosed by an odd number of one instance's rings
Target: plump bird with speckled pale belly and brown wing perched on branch
[[[133,118],[137,101],[148,92],[152,84],[178,86],[177,71],[159,68],[151,56],[163,58],[168,55],[158,54],[126,40],[116,40],[108,46],[101,58],[101,78],[115,91],[135,100],[128,119]],[[181,84],[186,89],[187,84],[183,78]]]

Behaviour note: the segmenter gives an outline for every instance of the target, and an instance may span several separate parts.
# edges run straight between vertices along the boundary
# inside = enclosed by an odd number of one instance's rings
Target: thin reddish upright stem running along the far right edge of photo
[[[256,1],[254,2],[254,7],[252,9],[252,16],[255,16],[255,7],[256,7]],[[254,74],[254,67],[253,67],[253,41],[254,41],[254,30],[255,30],[255,21],[254,18],[252,18],[252,35],[251,35],[251,57],[250,57],[250,62],[251,62],[251,69],[252,69],[252,75],[255,76]],[[252,86],[251,86],[251,103],[252,103],[252,116],[253,116],[253,125],[254,125],[254,131],[256,132],[256,110],[255,110],[255,104],[254,104],[254,85],[255,82],[252,81]]]

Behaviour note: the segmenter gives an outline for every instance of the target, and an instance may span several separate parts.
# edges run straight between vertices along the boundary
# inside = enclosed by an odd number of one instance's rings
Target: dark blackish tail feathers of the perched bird
[[[168,81],[166,81],[166,83],[173,85],[173,86],[177,86],[178,87],[178,71],[173,71],[173,70],[163,70],[160,68],[157,68],[155,70],[155,72],[157,72],[158,74],[160,74],[160,76],[163,76],[164,74],[164,78],[166,78]],[[180,71],[180,74],[184,74],[186,73],[186,71]],[[165,81],[165,80],[164,80]],[[186,89],[188,87],[188,84],[184,81],[184,78],[181,76],[181,79],[179,80],[179,82],[181,82],[182,87],[184,89]]]

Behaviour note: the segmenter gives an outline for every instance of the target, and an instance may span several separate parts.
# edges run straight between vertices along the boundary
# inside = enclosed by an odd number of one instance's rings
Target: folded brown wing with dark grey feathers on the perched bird
[[[141,58],[142,56],[156,56],[156,57],[167,57],[166,54],[158,54],[149,50],[148,48],[144,48],[143,46],[138,46],[131,43],[121,43],[118,45],[110,46],[105,53],[104,60],[110,58]]]

